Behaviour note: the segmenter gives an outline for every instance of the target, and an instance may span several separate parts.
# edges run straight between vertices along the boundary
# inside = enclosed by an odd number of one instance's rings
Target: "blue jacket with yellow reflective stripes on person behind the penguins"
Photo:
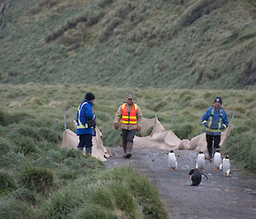
[[[201,123],[206,127],[208,135],[221,135],[221,132],[229,126],[229,118],[223,107],[215,110],[212,106],[202,116]]]

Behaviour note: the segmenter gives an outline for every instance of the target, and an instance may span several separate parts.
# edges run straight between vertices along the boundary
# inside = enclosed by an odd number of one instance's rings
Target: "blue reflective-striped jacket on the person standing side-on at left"
[[[96,119],[96,116],[92,111],[93,105],[94,105],[93,102],[87,101],[86,99],[84,99],[82,104],[79,106],[78,114],[77,114],[77,124],[78,124],[77,135],[84,135],[84,134],[95,135],[94,128],[85,128],[84,126],[84,121],[85,121],[84,110],[85,110],[86,120]]]

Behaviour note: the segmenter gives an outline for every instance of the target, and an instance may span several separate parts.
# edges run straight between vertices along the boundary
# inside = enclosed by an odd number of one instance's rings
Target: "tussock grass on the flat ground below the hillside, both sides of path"
[[[236,109],[232,122],[234,128],[221,149],[247,170],[255,172],[254,89],[80,87],[72,84],[1,85],[2,112],[8,112],[3,113],[3,120],[9,121],[6,118],[18,115],[17,108],[12,106],[14,102],[20,103],[20,114],[15,123],[7,122],[0,127],[0,168],[17,179],[16,190],[2,193],[1,210],[17,205],[10,212],[20,218],[80,218],[84,212],[95,212],[96,216],[109,218],[167,218],[157,189],[134,170],[106,170],[96,158],[84,157],[79,151],[56,146],[61,144],[64,130],[63,106],[68,106],[67,128],[75,131],[70,105],[76,115],[77,107],[88,91],[96,95],[94,111],[105,146],[121,146],[120,130],[113,129],[113,118],[130,92],[135,95],[135,102],[142,108],[143,116],[154,118],[157,113],[166,130],[170,129],[175,114],[172,130],[181,139],[191,139],[204,131],[201,116],[219,95],[223,98],[223,107],[229,118]],[[22,92],[11,95],[16,90]],[[34,96],[43,105],[30,101]],[[148,130],[148,135],[151,130]]]

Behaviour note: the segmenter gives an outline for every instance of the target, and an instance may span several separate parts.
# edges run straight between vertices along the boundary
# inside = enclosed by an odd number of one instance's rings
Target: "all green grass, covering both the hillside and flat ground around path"
[[[249,0],[11,1],[0,20],[0,218],[167,218],[135,170],[58,147],[63,107],[75,131],[69,112],[88,91],[106,146],[121,143],[113,118],[128,92],[166,130],[175,114],[181,139],[203,132],[220,95],[229,118],[236,110],[224,152],[256,173],[255,14]]]

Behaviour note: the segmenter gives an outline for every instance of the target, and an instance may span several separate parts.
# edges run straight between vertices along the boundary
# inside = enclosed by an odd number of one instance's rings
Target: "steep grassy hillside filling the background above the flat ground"
[[[253,1],[10,2],[0,29],[2,83],[242,89],[256,82]]]

